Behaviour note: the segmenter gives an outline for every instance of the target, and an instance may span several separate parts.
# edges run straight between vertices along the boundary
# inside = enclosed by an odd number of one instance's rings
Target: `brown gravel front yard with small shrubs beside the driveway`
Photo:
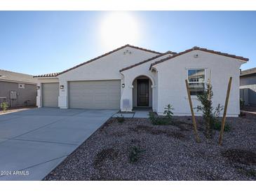
[[[174,117],[174,125],[110,118],[44,180],[256,180],[256,116],[227,118],[222,146],[219,131],[208,141],[202,118],[196,121],[201,143],[191,117]],[[130,163],[134,147],[140,153]]]

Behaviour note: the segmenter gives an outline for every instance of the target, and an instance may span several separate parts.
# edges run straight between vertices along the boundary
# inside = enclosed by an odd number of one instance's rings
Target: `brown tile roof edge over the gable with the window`
[[[180,52],[180,53],[177,53],[177,54],[175,54],[175,55],[173,55],[173,56],[166,57],[166,58],[164,58],[163,60],[159,60],[159,61],[156,61],[156,62],[152,63],[151,66],[150,66],[150,69],[151,69],[152,66],[154,66],[154,65],[156,65],[156,64],[159,64],[159,63],[161,63],[161,62],[165,62],[166,60],[173,59],[174,57],[183,55],[183,54],[185,54],[185,53],[189,53],[189,52],[192,51],[192,50],[202,50],[202,51],[205,51],[205,52],[208,52],[208,53],[213,53],[213,54],[217,54],[217,55],[232,57],[232,58],[235,58],[235,59],[238,59],[238,60],[243,60],[243,61],[246,61],[246,62],[249,60],[248,58],[245,58],[245,57],[236,56],[236,55],[230,55],[230,54],[228,54],[228,53],[221,53],[221,52],[219,52],[219,51],[209,50],[209,49],[206,49],[206,48],[199,48],[199,47],[196,47],[196,46],[195,46],[194,48],[190,48],[190,49],[188,49],[188,50],[184,50],[184,51],[182,51],[182,52]]]

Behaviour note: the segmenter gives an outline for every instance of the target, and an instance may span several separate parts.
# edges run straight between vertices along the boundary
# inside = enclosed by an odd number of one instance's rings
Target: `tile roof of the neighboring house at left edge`
[[[20,83],[36,83],[32,75],[20,74],[13,71],[6,71],[0,69],[0,81],[13,81]]]

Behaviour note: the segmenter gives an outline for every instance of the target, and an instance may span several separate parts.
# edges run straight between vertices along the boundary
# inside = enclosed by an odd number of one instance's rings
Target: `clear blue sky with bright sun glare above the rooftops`
[[[0,11],[0,69],[59,72],[130,43],[159,52],[193,46],[256,67],[256,11]]]

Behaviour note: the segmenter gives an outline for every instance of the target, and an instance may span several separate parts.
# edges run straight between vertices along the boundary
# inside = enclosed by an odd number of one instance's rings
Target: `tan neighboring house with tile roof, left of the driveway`
[[[36,105],[36,79],[0,69],[0,102],[9,107]]]

